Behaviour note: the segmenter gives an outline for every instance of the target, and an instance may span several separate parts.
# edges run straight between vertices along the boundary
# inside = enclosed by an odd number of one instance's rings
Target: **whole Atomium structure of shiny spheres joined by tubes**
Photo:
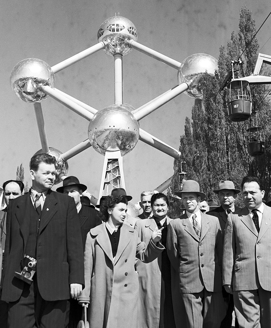
[[[203,75],[208,72],[210,76],[214,76],[215,70],[218,69],[217,60],[208,54],[197,53],[187,57],[183,62],[178,62],[138,43],[137,40],[138,33],[135,25],[125,17],[114,16],[101,24],[96,45],[52,67],[40,59],[27,58],[20,61],[13,68],[10,76],[10,85],[13,92],[21,100],[34,104],[42,146],[42,149],[38,152],[51,154],[57,159],[58,177],[56,183],[61,182],[67,176],[67,160],[91,146],[99,154],[104,155],[105,158],[99,198],[102,195],[110,195],[113,188],[125,188],[122,157],[134,149],[138,140],[168,154],[174,159],[179,159],[180,153],[178,150],[140,129],[139,121],[182,92],[190,97],[202,99]],[[177,70],[178,82],[172,89],[137,109],[123,101],[122,58],[134,49]],[[55,73],[99,50],[103,50],[107,55],[114,58],[115,102],[111,106],[98,111],[90,105],[56,89]],[[48,146],[41,107],[41,101],[48,96],[90,122],[87,131],[88,139],[65,153]],[[171,178],[155,189],[162,192],[170,182]],[[91,201],[96,205],[97,198],[91,197]]]

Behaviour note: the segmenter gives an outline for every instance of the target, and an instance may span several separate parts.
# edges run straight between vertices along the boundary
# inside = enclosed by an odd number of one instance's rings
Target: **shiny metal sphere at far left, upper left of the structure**
[[[10,86],[20,99],[35,103],[48,97],[39,86],[55,86],[55,74],[43,60],[27,58],[14,66],[10,75]]]

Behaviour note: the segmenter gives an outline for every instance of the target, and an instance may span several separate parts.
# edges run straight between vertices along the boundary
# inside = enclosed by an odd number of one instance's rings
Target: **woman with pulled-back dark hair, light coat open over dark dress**
[[[135,229],[138,231],[140,240],[146,244],[149,242],[155,229],[161,229],[161,243],[166,246],[167,227],[172,220],[167,216],[169,201],[168,197],[162,193],[154,194],[151,198],[153,216],[148,219],[137,220]],[[176,304],[176,320],[174,320],[172,292],[179,294],[178,284],[171,286],[171,264],[164,250],[151,263],[136,262],[136,271],[139,275],[139,313],[138,328],[175,328],[182,326],[178,320],[178,313],[181,311],[181,304]],[[173,270],[172,270],[173,271]],[[175,277],[174,277],[175,278]],[[178,282],[173,279],[172,283]],[[185,322],[185,317],[183,318]],[[175,325],[176,321],[176,325]],[[182,326],[183,327],[183,326]]]

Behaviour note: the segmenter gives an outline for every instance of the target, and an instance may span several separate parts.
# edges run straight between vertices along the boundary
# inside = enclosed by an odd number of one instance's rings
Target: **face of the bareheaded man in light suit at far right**
[[[264,190],[260,190],[260,186],[256,181],[245,182],[242,190],[242,197],[245,207],[248,209],[257,209],[262,204]]]

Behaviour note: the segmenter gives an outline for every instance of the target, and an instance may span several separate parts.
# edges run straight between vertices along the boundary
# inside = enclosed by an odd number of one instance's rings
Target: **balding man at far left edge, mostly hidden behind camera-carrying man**
[[[9,200],[15,199],[22,195],[25,185],[20,180],[8,180],[3,183],[3,196],[8,206]],[[6,223],[7,223],[7,207],[0,211],[0,281],[2,275],[2,262],[5,252],[6,241]],[[8,303],[0,301],[0,327],[7,327],[8,320]]]

